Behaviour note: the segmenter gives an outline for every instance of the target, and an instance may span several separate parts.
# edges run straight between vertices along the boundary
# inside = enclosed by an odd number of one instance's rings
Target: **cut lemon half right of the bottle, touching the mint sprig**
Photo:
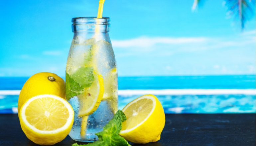
[[[165,113],[154,95],[141,96],[122,110],[127,120],[122,124],[119,135],[134,143],[148,143],[160,140],[165,126]]]

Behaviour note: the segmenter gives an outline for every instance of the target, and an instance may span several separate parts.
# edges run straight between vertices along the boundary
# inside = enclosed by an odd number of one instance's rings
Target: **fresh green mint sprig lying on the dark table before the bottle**
[[[122,129],[122,122],[125,120],[126,116],[123,111],[118,110],[113,119],[103,127],[103,131],[95,133],[99,141],[83,145],[74,143],[72,146],[131,146],[123,137],[118,135]]]

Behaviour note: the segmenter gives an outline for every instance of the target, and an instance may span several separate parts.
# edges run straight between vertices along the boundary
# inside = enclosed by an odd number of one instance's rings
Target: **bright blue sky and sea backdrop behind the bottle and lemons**
[[[106,0],[118,102],[154,94],[166,113],[255,113],[255,0]],[[64,78],[71,18],[95,0],[0,1],[0,113],[38,72]]]

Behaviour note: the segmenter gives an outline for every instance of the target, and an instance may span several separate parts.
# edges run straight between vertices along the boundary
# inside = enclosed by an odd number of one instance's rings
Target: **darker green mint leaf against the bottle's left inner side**
[[[84,92],[84,88],[72,79],[69,74],[66,73],[66,100],[69,100],[73,96],[77,96]]]

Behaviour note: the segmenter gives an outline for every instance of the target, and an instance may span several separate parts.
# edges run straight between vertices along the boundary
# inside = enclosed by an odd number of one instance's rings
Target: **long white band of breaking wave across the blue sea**
[[[255,89],[160,89],[160,90],[118,90],[118,95],[255,95]],[[0,90],[0,95],[19,95],[20,90]]]

